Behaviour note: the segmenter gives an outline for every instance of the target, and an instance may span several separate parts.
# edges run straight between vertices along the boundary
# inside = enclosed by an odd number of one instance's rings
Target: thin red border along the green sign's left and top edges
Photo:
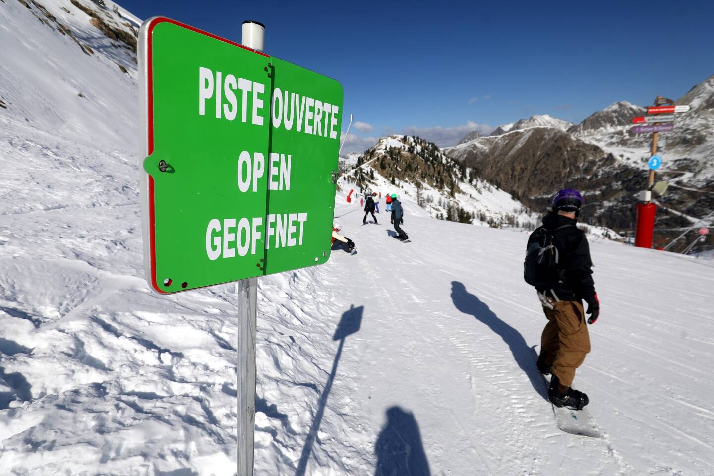
[[[269,54],[265,54],[261,51],[256,51],[248,46],[241,45],[235,41],[231,41],[221,36],[216,36],[214,34],[208,33],[208,31],[203,31],[197,29],[193,26],[181,23],[180,21],[171,20],[164,16],[159,16],[158,18],[151,20],[149,26],[146,27],[146,128],[147,128],[147,138],[146,146],[148,149],[147,156],[151,156],[154,153],[154,64],[152,61],[152,51],[151,51],[151,32],[154,31],[156,25],[160,23],[171,23],[176,26],[181,26],[191,31],[196,31],[202,35],[209,36],[210,38],[216,39],[218,41],[223,41],[224,43],[231,44],[233,46],[238,46],[238,48],[246,49],[248,51],[253,51],[253,53],[270,58]],[[156,231],[154,229],[154,178],[149,175],[149,246],[151,247],[151,285],[154,289],[159,291],[159,293],[169,294],[166,291],[159,289],[159,284],[156,282]]]

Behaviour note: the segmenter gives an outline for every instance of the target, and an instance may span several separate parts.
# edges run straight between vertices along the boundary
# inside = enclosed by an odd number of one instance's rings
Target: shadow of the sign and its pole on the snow
[[[345,338],[348,335],[352,335],[359,331],[362,325],[362,315],[364,313],[364,306],[361,305],[358,308],[354,305],[350,305],[350,308],[343,313],[340,323],[337,325],[335,330],[335,335],[332,336],[332,340],[339,340],[340,346],[337,348],[337,353],[335,355],[335,360],[332,363],[332,371],[325,384],[325,389],[320,395],[320,400],[318,401],[318,410],[313,419],[312,425],[310,426],[310,431],[308,432],[308,437],[305,440],[305,445],[303,446],[303,452],[300,455],[300,462],[298,462],[298,469],[295,472],[295,476],[304,476],[307,470],[308,460],[310,459],[310,454],[312,452],[313,445],[315,444],[315,438],[317,437],[317,432],[320,430],[320,424],[322,422],[322,417],[325,415],[325,407],[327,405],[327,397],[330,395],[332,390],[332,383],[335,380],[335,375],[337,375],[337,364],[340,362],[340,357],[342,355],[342,348],[345,345]]]

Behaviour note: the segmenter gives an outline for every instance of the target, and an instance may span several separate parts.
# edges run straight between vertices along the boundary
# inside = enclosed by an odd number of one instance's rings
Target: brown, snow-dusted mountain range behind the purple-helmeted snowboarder
[[[691,103],[692,110],[677,114],[675,131],[660,133],[665,166],[657,176],[670,188],[657,199],[656,245],[668,243],[678,228],[695,223],[714,206],[713,84],[714,76],[680,98],[678,103]],[[508,133],[477,138],[446,153],[478,168],[483,178],[534,210],[547,207],[549,194],[558,188],[580,188],[586,193],[585,221],[631,233],[652,136],[630,129],[632,118],[644,113],[642,106],[619,101],[567,130],[524,129],[516,123]]]

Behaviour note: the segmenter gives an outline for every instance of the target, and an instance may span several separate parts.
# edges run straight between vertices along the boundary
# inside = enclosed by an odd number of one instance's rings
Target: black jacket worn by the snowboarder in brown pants
[[[543,217],[543,226],[549,230],[555,230],[563,225],[573,225],[560,228],[553,233],[553,244],[560,252],[560,265],[565,271],[565,283],[553,288],[560,300],[580,300],[595,294],[591,269],[593,262],[590,260],[588,240],[575,223],[577,220],[557,213],[548,213]],[[532,240],[533,234],[528,238],[528,245],[531,245]],[[539,291],[542,293],[544,290],[539,289]]]

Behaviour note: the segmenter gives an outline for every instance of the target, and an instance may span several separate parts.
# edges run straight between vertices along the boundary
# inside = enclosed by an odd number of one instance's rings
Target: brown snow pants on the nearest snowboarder
[[[590,352],[590,335],[585,313],[580,301],[555,301],[543,305],[548,324],[540,337],[540,346],[545,352],[545,365],[553,365],[551,372],[558,377],[560,385],[570,387],[575,378],[575,369],[582,365],[585,354]]]

